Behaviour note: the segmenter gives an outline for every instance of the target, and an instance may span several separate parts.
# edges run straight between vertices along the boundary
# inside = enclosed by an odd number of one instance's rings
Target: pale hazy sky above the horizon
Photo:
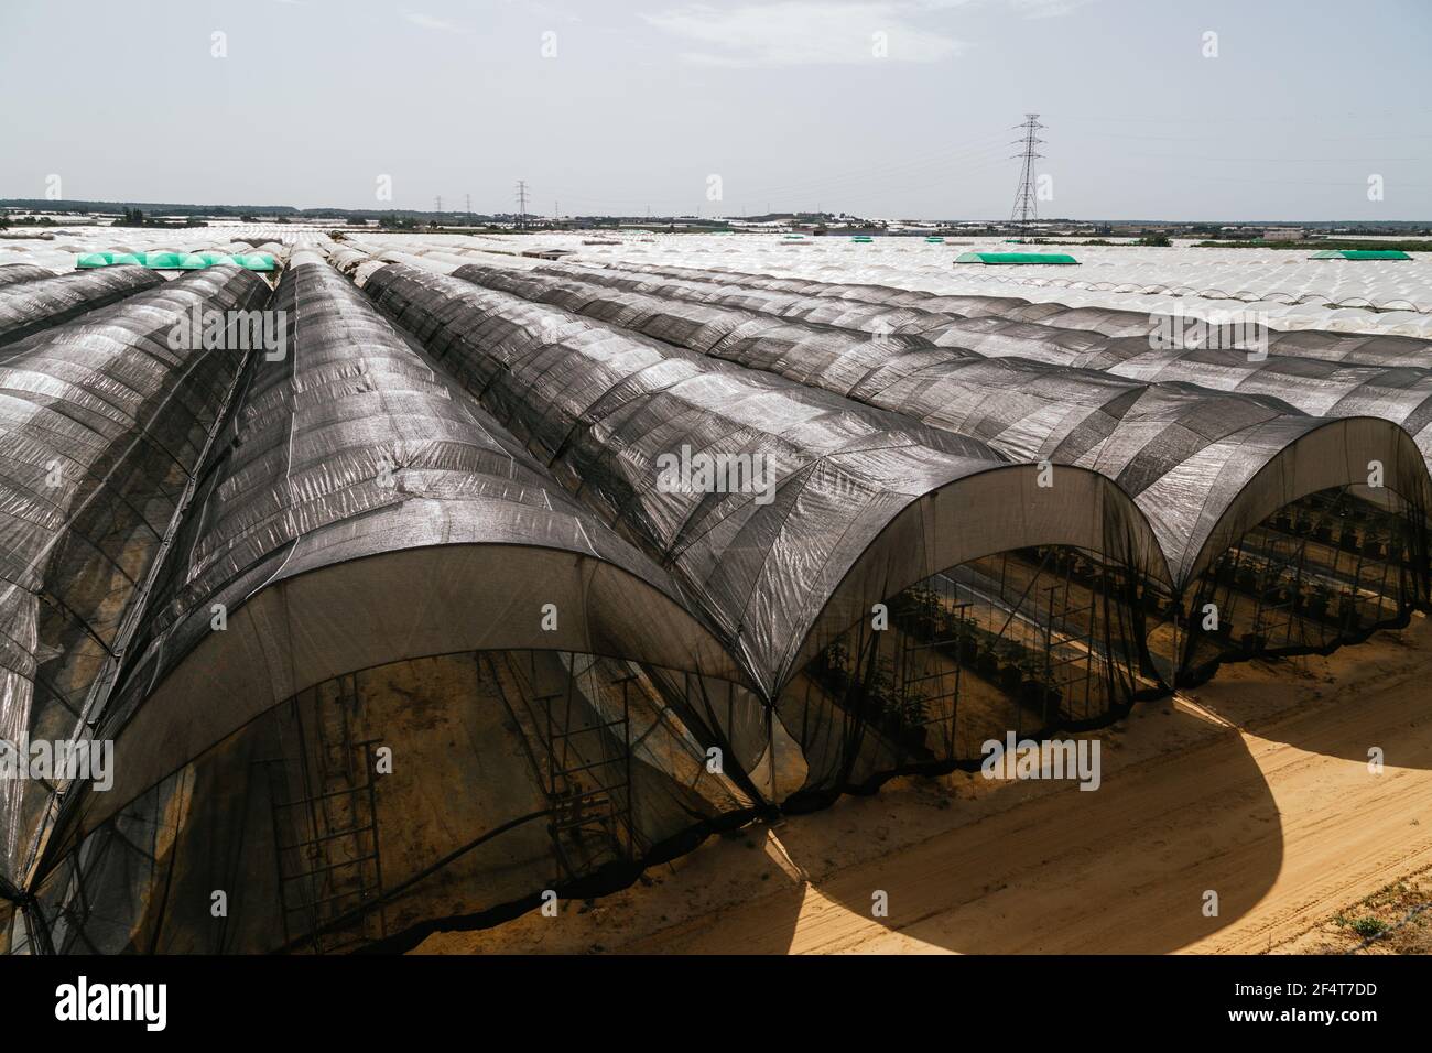
[[[1429,56],[1428,0],[0,0],[0,198],[1000,218],[1037,112],[1045,216],[1425,221]]]

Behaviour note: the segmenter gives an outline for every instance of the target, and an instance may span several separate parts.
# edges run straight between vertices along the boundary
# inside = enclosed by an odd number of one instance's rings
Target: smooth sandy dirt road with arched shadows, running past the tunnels
[[[1429,709],[1432,686],[1396,676],[616,950],[1273,950],[1432,864]]]

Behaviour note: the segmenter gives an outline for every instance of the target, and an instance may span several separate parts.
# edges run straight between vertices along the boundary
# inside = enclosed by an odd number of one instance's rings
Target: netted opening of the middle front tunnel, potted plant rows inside
[[[839,789],[974,769],[990,739],[1100,726],[1157,686],[1141,672],[1134,582],[1093,552],[1002,552],[884,607],[884,622],[876,609],[822,649],[780,702],[812,774]]]

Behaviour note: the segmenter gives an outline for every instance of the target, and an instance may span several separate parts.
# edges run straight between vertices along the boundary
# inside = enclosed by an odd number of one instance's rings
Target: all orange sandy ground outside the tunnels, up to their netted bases
[[[1432,887],[1429,678],[1422,617],[1327,659],[1229,666],[1093,736],[1097,792],[902,779],[418,953],[1348,950],[1352,923],[1393,924]]]

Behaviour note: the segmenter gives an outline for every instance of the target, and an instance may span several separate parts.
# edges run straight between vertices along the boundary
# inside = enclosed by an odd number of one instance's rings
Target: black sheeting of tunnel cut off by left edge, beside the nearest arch
[[[238,375],[229,351],[173,350],[175,325],[195,307],[246,309],[268,295],[232,266],[159,285],[0,352],[0,735],[10,744],[86,738],[99,719]],[[57,788],[0,782],[0,887],[26,883]]]

